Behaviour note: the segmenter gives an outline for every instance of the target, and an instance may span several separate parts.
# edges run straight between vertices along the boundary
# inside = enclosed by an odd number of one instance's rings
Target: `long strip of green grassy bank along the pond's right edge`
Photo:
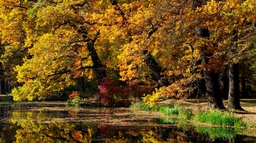
[[[135,102],[131,105],[131,108],[136,108],[146,111],[158,111],[166,116],[175,116],[177,118],[183,119],[183,121],[191,120],[194,122],[209,123],[210,125],[218,126],[236,126],[245,127],[252,126],[235,117],[232,113],[228,111],[198,111],[196,114],[192,114],[192,111],[187,107],[182,105],[170,104],[170,105],[156,105],[155,107],[150,107],[144,102]],[[168,120],[168,119],[164,119]],[[171,122],[172,123],[172,122]],[[255,126],[255,125],[254,125]]]

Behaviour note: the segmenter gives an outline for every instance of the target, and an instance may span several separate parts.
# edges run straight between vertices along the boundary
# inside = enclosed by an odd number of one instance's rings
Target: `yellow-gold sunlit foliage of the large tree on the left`
[[[122,21],[110,3],[82,0],[19,2],[1,5],[1,18],[4,20],[2,42],[12,45],[9,47],[13,48],[14,54],[20,51],[20,64],[24,62],[15,67],[18,82],[23,86],[13,90],[14,100],[44,99],[53,92],[73,85],[76,77],[94,77],[92,68],[86,69],[93,64],[86,44],[90,39],[95,39],[101,30],[103,36],[98,38],[98,46],[95,47],[105,52],[106,55],[100,55],[109,61],[116,57],[116,53],[108,49],[110,47],[104,47],[104,43],[113,42],[115,37],[121,35],[120,32],[107,38],[110,29],[104,26],[115,26],[115,21]],[[115,20],[112,20],[114,17]],[[81,27],[86,30],[83,35],[79,32]],[[7,60],[14,57],[8,49],[5,51]],[[111,63],[107,60],[104,63]]]

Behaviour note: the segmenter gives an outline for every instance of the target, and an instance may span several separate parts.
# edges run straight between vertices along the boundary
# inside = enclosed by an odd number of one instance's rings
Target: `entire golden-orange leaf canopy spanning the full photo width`
[[[200,70],[219,72],[246,57],[255,34],[255,5],[252,0],[1,1],[1,40],[6,44],[2,59],[7,67],[19,56],[15,64],[20,66],[9,66],[24,85],[14,93],[32,100],[40,92],[74,84],[74,78],[95,77],[89,41],[94,41],[104,68],[118,71],[127,81],[152,81],[142,54],[148,50],[165,69],[161,75],[171,80],[152,98],[183,98],[201,78]],[[209,29],[209,38],[197,36],[196,26]],[[207,64],[200,61],[202,54],[208,56]]]

